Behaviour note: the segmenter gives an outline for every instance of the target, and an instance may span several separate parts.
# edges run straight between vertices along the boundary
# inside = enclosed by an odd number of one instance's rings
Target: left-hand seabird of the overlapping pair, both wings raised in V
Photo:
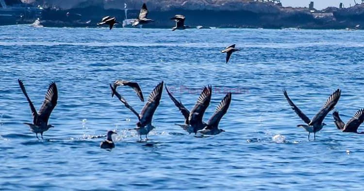
[[[197,131],[203,129],[207,126],[205,122],[202,121],[203,114],[205,113],[207,107],[210,105],[212,87],[204,87],[201,94],[199,95],[199,99],[197,100],[195,107],[190,111],[188,111],[182,104],[182,102],[178,101],[176,98],[172,96],[169,92],[167,86],[165,86],[165,90],[168,93],[168,96],[171,98],[173,103],[177,106],[177,108],[182,112],[184,116],[184,125],[181,126],[188,133],[197,133]],[[177,124],[178,125],[178,124]]]

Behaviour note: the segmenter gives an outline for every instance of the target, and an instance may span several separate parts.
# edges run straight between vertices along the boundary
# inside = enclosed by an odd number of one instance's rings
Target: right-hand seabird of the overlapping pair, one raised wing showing
[[[215,113],[211,116],[209,121],[207,121],[206,127],[202,130],[199,130],[198,132],[204,135],[217,135],[221,132],[224,132],[225,130],[219,129],[218,125],[222,116],[224,116],[228,111],[231,101],[232,93],[229,92],[217,106]]]

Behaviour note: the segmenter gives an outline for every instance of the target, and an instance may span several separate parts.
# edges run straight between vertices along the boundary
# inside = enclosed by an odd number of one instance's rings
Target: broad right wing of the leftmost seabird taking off
[[[38,112],[40,120],[42,120],[45,123],[48,123],[48,120],[50,118],[50,113],[57,105],[57,100],[58,100],[57,85],[55,82],[51,82],[50,87],[48,88],[46,96],[44,98],[43,104]]]

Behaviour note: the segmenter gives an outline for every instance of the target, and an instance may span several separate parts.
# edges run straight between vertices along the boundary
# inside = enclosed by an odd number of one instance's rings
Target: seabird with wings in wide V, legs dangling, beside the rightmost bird
[[[288,104],[292,107],[297,115],[307,124],[307,125],[298,125],[297,127],[303,127],[308,132],[308,140],[310,140],[310,133],[314,133],[314,140],[316,140],[316,132],[320,131],[322,127],[326,126],[325,123],[322,123],[326,117],[326,115],[334,109],[335,105],[340,99],[341,90],[337,89],[331,96],[326,100],[325,105],[321,108],[320,111],[310,120],[298,107],[292,102],[292,100],[288,97],[287,91],[283,90],[283,94],[286,97]]]

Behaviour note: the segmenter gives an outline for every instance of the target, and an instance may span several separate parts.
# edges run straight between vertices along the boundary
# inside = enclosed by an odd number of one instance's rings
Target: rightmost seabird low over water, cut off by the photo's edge
[[[358,132],[359,126],[364,121],[364,109],[361,109],[357,111],[354,116],[345,124],[339,116],[339,111],[334,110],[332,113],[332,116],[334,118],[335,125],[337,129],[343,131],[343,132],[351,132],[351,133],[358,133],[363,134],[364,132]]]

